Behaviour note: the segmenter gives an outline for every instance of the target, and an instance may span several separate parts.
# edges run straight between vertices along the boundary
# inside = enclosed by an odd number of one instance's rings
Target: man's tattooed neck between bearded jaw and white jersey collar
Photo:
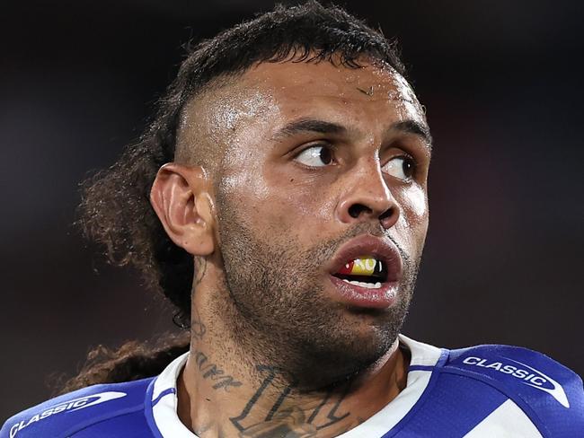
[[[395,341],[358,375],[324,388],[300,388],[286,370],[242,346],[212,302],[204,302],[212,294],[193,295],[198,300],[190,357],[177,382],[178,414],[201,438],[334,437],[376,414],[405,387],[409,357]]]

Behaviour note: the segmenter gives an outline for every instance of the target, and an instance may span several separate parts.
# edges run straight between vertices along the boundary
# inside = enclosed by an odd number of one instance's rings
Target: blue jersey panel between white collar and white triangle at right
[[[464,436],[507,400],[482,381],[440,372],[438,368],[433,374],[423,399],[383,438]]]

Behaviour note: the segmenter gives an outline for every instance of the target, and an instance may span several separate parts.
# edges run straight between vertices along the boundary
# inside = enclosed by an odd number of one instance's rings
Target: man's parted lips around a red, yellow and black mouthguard
[[[347,275],[352,262],[367,259],[369,263],[379,263],[382,272],[376,268],[376,276],[367,278],[357,269],[351,271],[357,272],[357,276]],[[403,262],[392,241],[363,235],[345,243],[328,264],[327,271],[341,302],[362,308],[386,308],[395,302]]]

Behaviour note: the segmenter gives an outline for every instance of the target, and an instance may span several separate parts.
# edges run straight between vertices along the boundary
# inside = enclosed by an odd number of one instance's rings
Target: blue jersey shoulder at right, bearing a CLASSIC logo
[[[550,436],[584,430],[582,380],[547,355],[518,346],[473,346],[451,350],[441,372],[494,387]]]

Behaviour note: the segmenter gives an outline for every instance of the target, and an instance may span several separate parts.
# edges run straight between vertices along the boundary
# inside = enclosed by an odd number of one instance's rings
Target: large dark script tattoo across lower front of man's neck
[[[253,411],[261,405],[258,402],[265,396],[266,390],[270,387],[276,388],[273,383],[276,377],[281,374],[281,371],[278,368],[264,365],[258,365],[256,368],[258,372],[265,375],[260,388],[243,407],[243,411],[239,416],[229,418],[239,431],[240,437],[314,437],[321,429],[337,425],[341,420],[350,416],[350,412],[338,412],[342,400],[349,393],[349,384],[341,391],[341,397],[332,404],[328,402],[332,400],[333,390],[326,392],[321,403],[314,408],[309,416],[300,407],[282,407],[284,400],[289,396],[293,388],[293,385],[288,385],[280,390],[278,399],[276,399],[263,421],[258,423],[258,416],[253,415]],[[338,391],[334,391],[334,393],[338,394]],[[339,431],[339,433],[348,430],[350,427]]]

